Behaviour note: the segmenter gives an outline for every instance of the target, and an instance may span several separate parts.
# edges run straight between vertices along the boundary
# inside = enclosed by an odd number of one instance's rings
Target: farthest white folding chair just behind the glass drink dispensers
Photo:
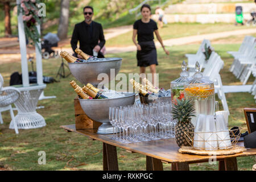
[[[207,44],[207,47],[210,46],[210,41],[207,39],[204,39],[199,49],[197,50],[196,54],[185,54],[185,56],[188,58],[187,67],[191,68],[192,72],[195,71],[196,61],[200,64],[200,69],[204,68],[205,55],[203,53],[203,49],[205,44]]]

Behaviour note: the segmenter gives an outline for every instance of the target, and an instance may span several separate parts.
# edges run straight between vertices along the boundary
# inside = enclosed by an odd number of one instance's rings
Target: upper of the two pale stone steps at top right
[[[165,14],[217,14],[217,13],[235,13],[236,6],[242,6],[243,13],[250,13],[256,9],[255,3],[204,3],[204,4],[176,4],[169,5]]]

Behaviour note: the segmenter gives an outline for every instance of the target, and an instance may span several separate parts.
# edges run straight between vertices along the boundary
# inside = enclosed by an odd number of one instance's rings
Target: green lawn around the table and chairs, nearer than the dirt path
[[[221,55],[225,62],[221,70],[221,78],[224,85],[241,84],[229,72],[232,64],[232,57],[226,51],[237,51],[238,44],[216,44],[213,47]],[[160,87],[170,88],[170,81],[179,77],[180,65],[185,59],[185,53],[195,53],[199,45],[168,47],[170,56],[158,49]],[[108,57],[122,57],[121,73],[138,73],[136,67],[135,52],[119,53],[108,55]],[[55,77],[60,65],[60,59],[43,60],[43,71],[45,76]],[[0,65],[0,73],[5,80],[5,86],[9,86],[11,73],[19,71],[19,63],[8,63]],[[147,71],[149,71],[147,69]],[[60,125],[75,123],[73,98],[75,92],[69,85],[69,81],[75,80],[72,76],[62,78],[60,82],[48,84],[44,90],[46,96],[57,96],[56,99],[39,101],[39,106],[44,109],[37,110],[46,119],[47,125],[40,129],[19,130],[15,135],[14,130],[9,129],[10,114],[3,112],[4,124],[0,125],[0,167],[11,170],[102,170],[102,143],[92,141],[84,136],[75,133],[66,133],[60,129]],[[75,80],[76,81],[76,80]],[[253,77],[250,77],[247,84],[252,84]],[[218,97],[216,95],[216,99]],[[229,124],[242,126],[246,130],[243,107],[255,107],[255,100],[250,93],[228,93],[230,117]],[[220,109],[222,105],[220,104]],[[16,113],[16,112],[15,112]],[[38,152],[46,152],[46,164],[38,164]],[[146,158],[141,154],[130,154],[125,150],[117,148],[118,163],[120,170],[145,170]],[[238,158],[239,170],[251,170],[256,163],[255,156]],[[170,164],[163,164],[165,170],[170,170]],[[191,170],[217,170],[218,165],[208,163],[191,164]]]

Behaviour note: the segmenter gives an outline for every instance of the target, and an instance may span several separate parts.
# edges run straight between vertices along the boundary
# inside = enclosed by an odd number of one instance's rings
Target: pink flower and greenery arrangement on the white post
[[[39,47],[40,35],[36,28],[36,24],[41,24],[40,17],[38,16],[38,7],[36,6],[38,3],[40,3],[39,0],[21,0],[18,6],[18,13],[21,12],[23,14],[22,19],[27,39],[31,39],[39,51],[41,51]]]

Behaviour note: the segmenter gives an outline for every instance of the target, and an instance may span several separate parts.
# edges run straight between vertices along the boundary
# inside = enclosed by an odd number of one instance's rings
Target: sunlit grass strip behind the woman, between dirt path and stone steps
[[[180,38],[183,36],[210,34],[214,32],[240,30],[245,28],[252,27],[235,26],[234,24],[230,23],[169,23],[164,24],[163,28],[159,29],[159,32],[161,38],[166,40],[172,38]],[[131,39],[132,36],[133,31],[131,30],[125,34],[118,35],[112,39],[109,39],[106,41],[106,46],[131,46],[133,45],[133,41]]]

